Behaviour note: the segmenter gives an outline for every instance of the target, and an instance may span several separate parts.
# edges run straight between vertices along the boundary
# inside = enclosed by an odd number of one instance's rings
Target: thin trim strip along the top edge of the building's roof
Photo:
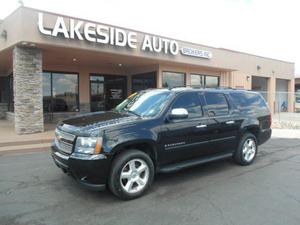
[[[32,7],[28,7],[28,6],[19,6],[12,13],[10,13],[8,16],[6,16],[4,19],[2,19],[2,20],[0,19],[0,24],[6,18],[8,18],[9,16],[13,15],[15,12],[17,12],[18,10],[20,10],[22,8],[33,10],[33,11],[36,11],[36,12],[48,13],[48,14],[52,14],[52,15],[56,15],[56,16],[69,17],[69,18],[76,19],[76,20],[83,20],[83,21],[92,22],[92,23],[101,23],[101,24],[106,25],[106,26],[112,26],[112,27],[121,28],[121,29],[125,29],[125,30],[130,30],[130,31],[138,32],[138,33],[148,34],[148,35],[155,35],[155,36],[158,36],[158,37],[168,38],[168,39],[172,39],[172,40],[175,40],[175,41],[184,42],[184,43],[187,43],[187,44],[201,45],[201,46],[207,47],[207,48],[213,48],[213,49],[217,49],[217,50],[223,50],[223,51],[228,51],[228,52],[240,53],[240,54],[245,54],[245,55],[260,57],[260,58],[264,58],[264,59],[270,59],[270,60],[276,60],[276,61],[279,61],[279,62],[295,64],[295,62],[291,62],[291,61],[286,61],[286,60],[281,60],[281,59],[275,59],[275,58],[266,57],[266,56],[260,56],[260,55],[256,55],[256,54],[251,54],[251,53],[247,53],[247,52],[242,52],[242,51],[237,51],[237,50],[232,50],[232,49],[227,49],[227,48],[222,48],[222,47],[218,48],[218,47],[213,47],[213,46],[209,46],[209,45],[203,45],[203,44],[199,44],[199,43],[195,43],[195,42],[191,42],[191,41],[184,41],[184,40],[180,40],[180,39],[176,39],[176,38],[172,38],[172,37],[168,37],[168,36],[161,36],[161,35],[152,34],[152,33],[148,33],[148,32],[143,32],[143,31],[139,31],[139,30],[135,30],[135,29],[131,29],[131,28],[120,27],[120,26],[116,26],[116,25],[112,25],[112,24],[108,24],[108,23],[102,23],[100,21],[94,21],[94,20],[84,19],[84,18],[80,18],[80,17],[74,17],[74,16],[69,16],[69,15],[64,15],[64,14],[55,13],[55,12],[51,12],[51,11],[47,11],[47,10],[42,10],[42,9],[37,9],[37,8],[32,8]]]

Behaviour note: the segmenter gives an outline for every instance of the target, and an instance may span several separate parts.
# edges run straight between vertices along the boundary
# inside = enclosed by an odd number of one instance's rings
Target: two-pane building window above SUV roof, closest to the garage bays
[[[208,88],[219,87],[220,78],[218,76],[191,74],[191,85],[194,87],[208,87]]]

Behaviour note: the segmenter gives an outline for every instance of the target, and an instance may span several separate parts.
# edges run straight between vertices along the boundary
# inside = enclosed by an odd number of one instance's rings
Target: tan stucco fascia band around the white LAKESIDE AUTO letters
[[[90,43],[85,40],[71,40],[61,37],[45,36],[39,32],[37,27],[38,12],[30,8],[19,8],[15,13],[6,18],[2,24],[0,24],[0,30],[6,29],[8,38],[6,41],[0,40],[0,51],[8,48],[11,45],[20,43],[22,41],[31,42],[45,45],[70,47],[82,50],[92,50],[106,53],[113,53],[118,55],[131,55],[142,58],[157,59],[161,62],[182,63],[186,65],[204,66],[215,69],[228,69],[242,71],[245,74],[251,74],[255,76],[267,76],[271,77],[272,74],[276,74],[278,78],[291,79],[294,76],[294,63],[274,60],[270,58],[264,58],[260,56],[250,55],[241,52],[235,52],[231,50],[224,50],[220,48],[208,47],[205,45],[194,44],[189,42],[178,41],[179,46],[192,47],[196,49],[202,49],[212,52],[212,59],[201,59],[196,57],[183,56],[180,53],[176,56],[164,53],[149,53],[140,50],[138,47],[135,50],[129,50],[125,47],[115,47],[111,45],[99,45],[98,43]],[[44,12],[44,24],[45,27],[53,28],[58,15],[53,13]],[[68,27],[68,18],[63,16]],[[24,19],[26,18],[26,19]],[[77,20],[76,18],[74,18]],[[100,23],[97,23],[100,24]],[[114,26],[117,27],[117,26]],[[16,29],[18,28],[18,29]],[[125,31],[132,31],[122,28]],[[146,33],[137,32],[138,43],[142,42],[142,39]],[[156,35],[158,36],[158,35]],[[171,38],[172,39],[172,38]],[[174,39],[172,39],[174,40]],[[257,66],[260,67],[257,70]]]

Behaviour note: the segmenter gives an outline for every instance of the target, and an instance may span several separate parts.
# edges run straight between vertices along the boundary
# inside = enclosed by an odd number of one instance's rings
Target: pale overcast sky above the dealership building
[[[4,19],[19,3],[0,0]],[[300,74],[297,0],[23,0],[25,6],[149,33],[295,62]]]

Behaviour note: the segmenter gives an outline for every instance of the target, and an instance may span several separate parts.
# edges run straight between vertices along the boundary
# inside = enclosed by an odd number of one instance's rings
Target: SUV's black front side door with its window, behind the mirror
[[[166,119],[161,126],[159,136],[161,165],[202,156],[209,152],[207,118],[203,116],[199,94],[190,92],[177,96],[170,111],[175,108],[184,108],[189,115],[185,119]]]

